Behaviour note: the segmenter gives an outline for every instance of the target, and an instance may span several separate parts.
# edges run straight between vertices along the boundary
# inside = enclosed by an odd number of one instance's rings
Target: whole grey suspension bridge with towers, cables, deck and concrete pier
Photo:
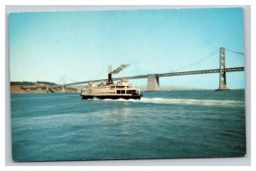
[[[241,54],[244,55],[241,52],[236,52],[230,49],[226,48],[219,48],[212,52],[211,54],[208,54],[207,56],[201,58],[200,60],[195,61],[194,63],[190,64],[189,66],[183,66],[182,68],[179,68],[175,71],[169,71],[166,73],[155,73],[155,74],[145,74],[145,75],[138,75],[138,76],[131,76],[131,77],[115,77],[113,78],[114,81],[116,80],[121,80],[124,78],[127,79],[141,79],[141,78],[147,78],[148,79],[148,86],[147,90],[148,91],[158,91],[160,90],[160,77],[174,77],[174,76],[184,76],[184,75],[195,75],[195,74],[212,74],[212,73],[219,73],[219,87],[216,90],[229,90],[227,87],[227,82],[226,82],[226,72],[234,72],[234,71],[244,71],[244,66],[240,67],[230,67],[226,68],[225,67],[225,51],[230,51],[231,53],[235,54]],[[219,53],[219,68],[216,69],[209,69],[209,70],[198,70],[198,71],[182,71],[185,68],[188,68],[190,66],[196,66],[199,63],[208,60],[209,58],[212,57],[213,54]],[[49,87],[50,88],[62,88],[62,92],[65,92],[65,88],[67,86],[73,86],[73,85],[81,85],[85,83],[99,83],[99,82],[107,82],[108,79],[96,79],[96,80],[89,80],[89,81],[84,81],[84,82],[74,82],[74,83],[65,83],[63,81],[62,83]]]

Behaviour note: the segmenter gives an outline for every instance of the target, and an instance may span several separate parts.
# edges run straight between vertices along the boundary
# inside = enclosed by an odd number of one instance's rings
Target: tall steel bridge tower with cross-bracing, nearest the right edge
[[[225,48],[219,48],[219,87],[217,91],[230,90],[227,88],[226,71],[225,71]]]

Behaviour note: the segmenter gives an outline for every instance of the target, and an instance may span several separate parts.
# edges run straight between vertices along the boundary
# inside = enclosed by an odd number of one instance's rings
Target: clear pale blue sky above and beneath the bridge
[[[244,52],[243,13],[229,9],[141,9],[9,14],[10,81],[65,83],[219,68],[218,48]],[[187,67],[212,54],[209,59]],[[226,67],[244,56],[226,51]],[[218,88],[218,73],[160,77],[160,86]],[[146,86],[147,79],[131,80]],[[227,73],[245,88],[244,72]]]

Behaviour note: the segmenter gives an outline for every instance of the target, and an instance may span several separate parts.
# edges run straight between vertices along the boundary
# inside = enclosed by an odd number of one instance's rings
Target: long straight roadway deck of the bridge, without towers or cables
[[[212,69],[212,70],[200,70],[200,71],[178,71],[178,72],[166,72],[166,73],[160,73],[160,74],[154,74],[155,77],[173,77],[173,76],[184,76],[184,75],[195,75],[195,74],[211,74],[211,73],[218,73],[220,69]],[[244,67],[233,67],[233,68],[226,68],[226,72],[231,71],[244,71]],[[147,78],[148,75],[139,75],[139,76],[131,76],[131,77],[115,77],[113,78],[113,81],[115,80],[121,80],[123,78],[127,79],[140,79],[140,78]],[[66,83],[63,84],[63,86],[73,86],[73,85],[79,85],[84,83],[98,83],[98,82],[107,82],[108,79],[99,79],[99,80],[90,80],[85,82],[77,82],[77,83]],[[61,85],[56,85],[50,88],[57,88],[61,87]]]

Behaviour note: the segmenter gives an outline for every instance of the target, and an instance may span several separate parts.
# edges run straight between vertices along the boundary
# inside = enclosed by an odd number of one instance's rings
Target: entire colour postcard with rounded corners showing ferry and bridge
[[[15,162],[244,157],[243,9],[9,14]]]

